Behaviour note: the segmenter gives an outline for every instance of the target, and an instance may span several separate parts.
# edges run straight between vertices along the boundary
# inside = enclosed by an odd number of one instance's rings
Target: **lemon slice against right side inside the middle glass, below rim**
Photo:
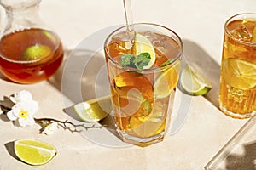
[[[172,90],[177,85],[179,69],[180,60],[177,60],[172,67],[162,71],[156,79],[154,82],[154,95],[157,99],[164,99],[172,93]]]

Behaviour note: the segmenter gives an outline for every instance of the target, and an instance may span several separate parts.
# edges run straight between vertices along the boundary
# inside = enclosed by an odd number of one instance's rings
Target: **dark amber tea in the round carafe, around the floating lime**
[[[34,45],[50,48],[43,59],[24,59],[25,50]],[[26,29],[2,37],[0,42],[0,70],[5,77],[19,83],[34,83],[52,76],[63,59],[61,40],[52,31]]]

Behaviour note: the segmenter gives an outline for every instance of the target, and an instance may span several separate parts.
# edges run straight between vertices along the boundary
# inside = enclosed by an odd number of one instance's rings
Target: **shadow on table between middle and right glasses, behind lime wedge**
[[[204,97],[218,108],[220,66],[195,42],[184,39],[183,48],[183,54],[189,65],[193,65],[211,82],[212,89]]]

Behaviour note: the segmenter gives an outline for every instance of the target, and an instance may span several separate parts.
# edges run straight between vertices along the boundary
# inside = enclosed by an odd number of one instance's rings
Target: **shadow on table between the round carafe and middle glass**
[[[49,83],[60,90],[63,97],[79,103],[109,95],[103,54],[85,49],[67,50],[65,53],[67,57],[61,68],[49,78]]]

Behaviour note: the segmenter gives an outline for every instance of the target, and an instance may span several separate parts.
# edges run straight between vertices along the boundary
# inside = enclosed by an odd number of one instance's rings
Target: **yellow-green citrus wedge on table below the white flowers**
[[[15,141],[15,155],[30,165],[43,165],[49,162],[57,151],[51,144],[33,139]]]

